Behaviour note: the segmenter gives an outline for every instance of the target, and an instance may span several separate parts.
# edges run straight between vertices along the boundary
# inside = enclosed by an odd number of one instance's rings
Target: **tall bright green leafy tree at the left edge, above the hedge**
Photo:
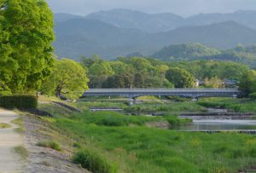
[[[1,89],[38,89],[53,66],[53,14],[44,0],[2,0],[0,8]]]

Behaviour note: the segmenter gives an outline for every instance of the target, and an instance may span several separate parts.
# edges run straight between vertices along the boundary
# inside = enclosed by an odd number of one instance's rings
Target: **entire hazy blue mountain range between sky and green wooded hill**
[[[79,60],[81,55],[103,58],[140,53],[152,55],[179,43],[202,43],[217,49],[256,43],[256,11],[231,14],[145,14],[128,9],[87,16],[55,14],[55,54]]]

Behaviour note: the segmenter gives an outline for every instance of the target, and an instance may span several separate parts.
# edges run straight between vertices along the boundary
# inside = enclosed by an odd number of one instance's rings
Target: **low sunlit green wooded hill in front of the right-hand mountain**
[[[177,44],[160,49],[152,57],[162,61],[236,61],[255,67],[256,45],[247,47],[237,45],[233,49],[219,50],[209,48],[200,43]]]

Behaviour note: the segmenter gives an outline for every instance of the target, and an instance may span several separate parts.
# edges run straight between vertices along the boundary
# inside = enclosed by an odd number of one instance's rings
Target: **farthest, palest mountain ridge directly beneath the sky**
[[[133,28],[151,33],[168,32],[182,26],[207,26],[229,20],[256,29],[256,11],[254,10],[239,10],[227,14],[196,14],[188,18],[172,13],[147,14],[130,9],[98,11],[84,17],[73,14],[55,14],[56,22],[81,18],[100,20],[113,26]]]

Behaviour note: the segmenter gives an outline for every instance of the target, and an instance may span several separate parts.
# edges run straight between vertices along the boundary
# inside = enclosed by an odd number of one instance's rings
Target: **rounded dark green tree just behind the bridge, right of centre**
[[[176,88],[194,87],[194,77],[184,69],[173,67],[166,72],[166,78],[174,84]]]

